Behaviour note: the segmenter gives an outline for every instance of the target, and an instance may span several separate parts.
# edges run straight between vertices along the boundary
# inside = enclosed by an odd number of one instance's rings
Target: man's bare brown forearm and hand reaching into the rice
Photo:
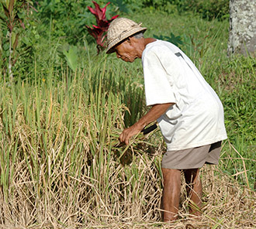
[[[167,111],[170,106],[174,105],[173,103],[168,104],[154,104],[152,108],[144,115],[144,117],[140,118],[135,124],[130,126],[130,128],[126,128],[123,130],[122,134],[119,136],[120,142],[125,142],[126,145],[129,144],[129,139],[133,135],[137,135],[146,125],[150,124],[150,122],[157,120],[162,114]]]

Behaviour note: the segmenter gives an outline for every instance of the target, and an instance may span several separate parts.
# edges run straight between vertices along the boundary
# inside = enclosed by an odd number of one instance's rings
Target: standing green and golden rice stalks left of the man
[[[54,220],[62,224],[72,216],[81,223],[97,215],[98,220],[106,214],[129,217],[137,210],[142,216],[144,210],[137,206],[147,202],[140,203],[141,195],[160,195],[154,192],[159,179],[150,186],[157,180],[157,167],[144,152],[140,163],[153,167],[138,167],[133,160],[130,167],[123,167],[116,157],[121,149],[114,146],[127,110],[123,100],[131,101],[139,91],[136,96],[142,101],[143,88],[129,78],[118,79],[115,73],[122,70],[112,70],[106,62],[103,57],[82,72],[64,70],[61,76],[47,77],[38,75],[35,67],[32,82],[2,81],[0,161],[6,203],[1,206],[2,223],[12,218],[29,225],[39,218],[52,219],[47,214],[53,212]],[[148,169],[154,172],[147,174]],[[126,194],[120,195],[123,190]],[[29,215],[22,219],[22,212]]]

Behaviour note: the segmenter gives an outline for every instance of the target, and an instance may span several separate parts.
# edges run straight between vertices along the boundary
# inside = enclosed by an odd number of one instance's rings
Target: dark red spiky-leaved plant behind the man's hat
[[[95,1],[92,1],[92,3],[95,5],[95,9],[92,9],[92,7],[88,6],[88,9],[90,12],[92,12],[93,15],[95,15],[97,26],[93,25],[92,27],[86,26],[88,32],[95,38],[97,43],[97,50],[98,54],[101,50],[104,50],[106,48],[105,46],[105,39],[106,39],[106,32],[109,29],[109,24],[112,22],[113,19],[116,19],[119,15],[113,16],[111,19],[106,19],[106,7],[110,4],[108,2],[104,8],[100,8],[99,4]]]

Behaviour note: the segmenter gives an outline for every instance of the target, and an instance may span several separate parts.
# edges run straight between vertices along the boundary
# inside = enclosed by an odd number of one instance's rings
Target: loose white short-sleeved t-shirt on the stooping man
[[[147,106],[175,103],[157,119],[168,151],[227,138],[219,97],[182,50],[157,40],[141,59]]]

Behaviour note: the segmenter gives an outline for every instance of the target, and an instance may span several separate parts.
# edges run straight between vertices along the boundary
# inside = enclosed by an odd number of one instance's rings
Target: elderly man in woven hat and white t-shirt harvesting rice
[[[144,117],[123,130],[119,141],[129,144],[133,135],[157,120],[167,145],[161,165],[164,221],[177,219],[181,171],[187,183],[190,213],[199,216],[199,168],[218,163],[221,141],[227,138],[223,106],[189,57],[171,43],[144,38],[146,29],[130,19],[118,18],[107,33],[107,53],[116,52],[126,62],[142,60],[146,103],[151,106]]]

